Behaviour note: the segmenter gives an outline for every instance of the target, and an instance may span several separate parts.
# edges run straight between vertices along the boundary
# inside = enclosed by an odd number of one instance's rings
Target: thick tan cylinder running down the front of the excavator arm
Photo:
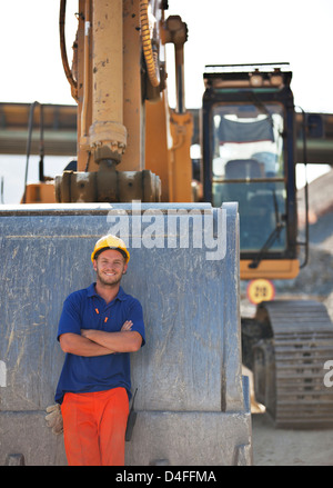
[[[121,161],[127,145],[123,126],[122,0],[93,1],[92,126],[90,145],[95,162]]]

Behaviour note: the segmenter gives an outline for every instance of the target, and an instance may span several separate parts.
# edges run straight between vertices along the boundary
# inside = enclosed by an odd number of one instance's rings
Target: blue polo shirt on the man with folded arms
[[[74,291],[64,300],[58,327],[58,340],[61,333],[81,335],[81,329],[119,332],[127,320],[132,320],[132,330],[141,335],[143,346],[145,335],[139,300],[127,295],[120,287],[114,300],[107,305],[105,300],[95,292],[94,285]],[[125,388],[129,398],[131,397],[129,352],[94,357],[67,353],[56,391],[56,401],[61,404],[65,392],[102,391],[118,387]]]

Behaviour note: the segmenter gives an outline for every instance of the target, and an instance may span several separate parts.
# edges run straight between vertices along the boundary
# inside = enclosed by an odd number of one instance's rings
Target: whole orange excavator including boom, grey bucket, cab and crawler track
[[[131,249],[124,287],[141,300],[148,329],[145,350],[132,360],[128,465],[251,465],[242,362],[276,427],[332,424],[326,310],[273,300],[253,319],[240,317],[240,279],[291,279],[300,269],[292,74],[280,63],[209,67],[193,180],[188,29],[167,11],[167,1],[79,0],[70,68],[60,1],[77,158],[54,182],[27,185],[22,205],[0,209],[0,464],[65,464],[61,436],[44,425],[63,360],[57,322],[65,296],[91,282],[84,257],[105,231]],[[167,43],[174,46],[174,110]]]

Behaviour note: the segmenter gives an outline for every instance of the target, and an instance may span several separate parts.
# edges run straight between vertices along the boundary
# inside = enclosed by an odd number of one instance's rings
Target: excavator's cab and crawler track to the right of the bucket
[[[206,67],[203,193],[214,207],[239,202],[240,276],[262,296],[254,318],[242,318],[243,361],[253,371],[255,398],[276,427],[332,427],[333,395],[323,371],[333,353],[327,310],[316,301],[269,297],[270,280],[293,279],[306,265],[309,221],[300,239],[295,167],[306,163],[309,135],[322,137],[320,119],[302,112],[297,155],[291,80],[287,63]]]

